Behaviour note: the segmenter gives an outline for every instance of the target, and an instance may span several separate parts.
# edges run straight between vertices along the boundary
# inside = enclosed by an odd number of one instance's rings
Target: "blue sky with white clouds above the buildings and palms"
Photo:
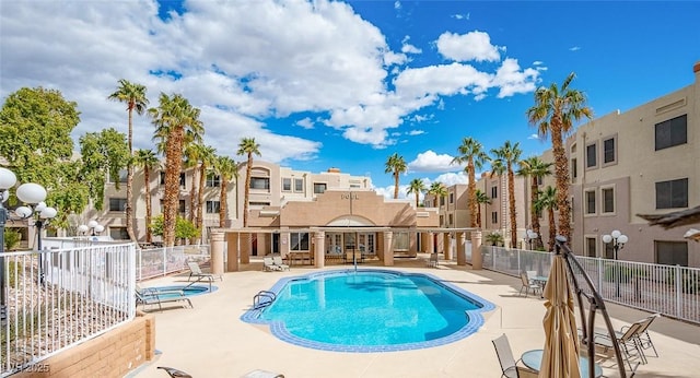
[[[150,106],[188,98],[205,143],[236,162],[255,138],[256,158],[370,176],[392,197],[397,153],[412,198],[413,178],[467,182],[451,164],[466,137],[548,150],[525,113],[571,72],[595,117],[692,84],[698,20],[695,1],[0,0],[0,99],[61,91],[81,111],[78,150],[86,132],[127,132],[126,106],[107,99],[126,79]],[[152,149],[151,119],[133,128]]]

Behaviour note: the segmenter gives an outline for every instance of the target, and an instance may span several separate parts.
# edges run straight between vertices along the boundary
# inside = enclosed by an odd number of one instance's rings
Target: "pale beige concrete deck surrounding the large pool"
[[[499,377],[500,366],[491,340],[508,334],[515,358],[545,343],[542,318],[545,302],[538,296],[521,297],[517,277],[457,267],[441,261],[438,269],[425,268],[427,256],[396,259],[395,267],[430,273],[492,302],[495,310],[483,312],[485,323],[475,333],[457,342],[401,352],[327,352],[292,345],[275,338],[267,327],[249,324],[240,317],[249,308],[253,296],[269,290],[282,276],[306,274],[315,269],[294,265],[290,271],[262,272],[261,259],[242,265],[241,272],[225,273],[217,281],[218,291],[192,296],[194,309],[168,306],[155,316],[155,361],[137,368],[129,377],[164,378],[158,366],[175,367],[195,378],[241,377],[261,369],[296,377]],[[372,267],[364,263],[361,267]],[[324,269],[351,268],[329,265]],[[380,268],[377,265],[377,268]],[[384,267],[381,267],[384,269]],[[141,282],[141,286],[179,284],[187,274]],[[648,312],[607,304],[616,328],[639,320]],[[348,314],[352,321],[352,314]],[[580,326],[581,322],[579,321]],[[596,326],[602,326],[596,320]],[[650,328],[660,357],[650,356],[635,377],[698,377],[700,373],[700,327],[660,318]],[[606,377],[617,377],[614,356],[598,359]]]

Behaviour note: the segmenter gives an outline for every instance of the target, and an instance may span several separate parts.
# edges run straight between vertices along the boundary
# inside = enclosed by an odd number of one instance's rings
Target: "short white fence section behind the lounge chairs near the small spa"
[[[187,261],[209,260],[209,246],[175,246],[137,251],[137,281],[187,269]]]

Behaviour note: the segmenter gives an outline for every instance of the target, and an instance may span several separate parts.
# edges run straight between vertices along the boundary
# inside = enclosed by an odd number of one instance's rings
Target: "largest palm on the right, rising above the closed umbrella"
[[[527,119],[537,127],[540,137],[551,133],[555,155],[555,178],[557,182],[557,205],[559,206],[559,231],[571,239],[571,206],[569,204],[569,162],[564,151],[564,134],[571,131],[574,121],[592,119],[593,109],[586,105],[583,92],[570,88],[574,79],[572,72],[561,87],[552,83],[549,87],[535,91],[535,105],[527,109]]]

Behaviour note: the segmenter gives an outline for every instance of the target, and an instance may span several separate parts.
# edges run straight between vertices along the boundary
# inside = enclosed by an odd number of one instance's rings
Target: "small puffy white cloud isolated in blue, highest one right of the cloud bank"
[[[491,45],[488,33],[474,31],[467,34],[443,33],[436,42],[438,51],[455,61],[499,61],[502,49]]]

